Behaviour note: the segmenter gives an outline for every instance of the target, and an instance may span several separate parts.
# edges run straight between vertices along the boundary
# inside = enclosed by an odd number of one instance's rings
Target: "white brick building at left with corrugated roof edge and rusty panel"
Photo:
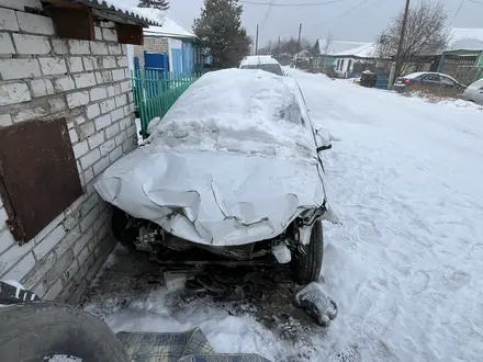
[[[0,280],[76,302],[113,249],[93,182],[136,145],[125,44],[148,24],[109,0],[0,0]]]

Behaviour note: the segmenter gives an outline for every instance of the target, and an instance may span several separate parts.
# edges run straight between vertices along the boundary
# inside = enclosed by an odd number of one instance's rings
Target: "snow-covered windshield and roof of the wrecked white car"
[[[314,158],[308,116],[295,80],[262,70],[204,75],[149,127],[145,144],[167,148]]]

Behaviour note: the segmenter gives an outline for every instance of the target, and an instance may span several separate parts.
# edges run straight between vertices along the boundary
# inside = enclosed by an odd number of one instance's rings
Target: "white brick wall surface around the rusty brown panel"
[[[9,1],[14,9],[41,7],[37,0]],[[126,47],[116,44],[112,22],[96,26],[96,38],[61,39],[50,19],[0,8],[0,127],[65,117],[85,189],[22,247],[0,206],[0,280],[18,279],[46,299],[79,297],[112,249],[110,207],[92,183],[136,139]]]

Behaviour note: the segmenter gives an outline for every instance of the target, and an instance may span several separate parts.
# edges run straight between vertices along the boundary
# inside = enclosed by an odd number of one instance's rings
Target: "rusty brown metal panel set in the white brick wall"
[[[0,129],[0,194],[20,244],[35,237],[82,195],[64,118]]]

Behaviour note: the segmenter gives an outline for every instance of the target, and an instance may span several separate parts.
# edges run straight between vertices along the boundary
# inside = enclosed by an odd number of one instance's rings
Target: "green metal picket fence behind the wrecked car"
[[[201,73],[176,75],[158,70],[133,70],[134,105],[139,114],[143,137],[155,117],[164,117],[178,98]]]

